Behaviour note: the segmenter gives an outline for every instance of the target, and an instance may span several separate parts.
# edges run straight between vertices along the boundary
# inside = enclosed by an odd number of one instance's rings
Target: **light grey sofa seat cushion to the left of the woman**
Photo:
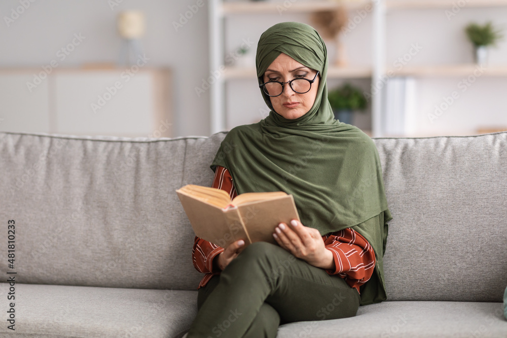
[[[9,285],[0,290],[7,295]],[[166,338],[183,335],[197,315],[189,290],[16,284],[15,297],[15,331],[4,319],[0,336]]]

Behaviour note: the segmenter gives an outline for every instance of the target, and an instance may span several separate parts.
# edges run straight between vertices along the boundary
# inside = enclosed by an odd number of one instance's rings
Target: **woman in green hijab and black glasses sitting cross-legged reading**
[[[292,194],[301,222],[280,223],[278,245],[221,248],[196,237],[194,265],[206,275],[188,338],[275,337],[280,324],[350,317],[386,298],[392,217],[380,160],[368,135],[333,119],[321,37],[306,24],[276,24],[261,35],[256,65],[270,114],[227,134],[212,186],[231,197]]]

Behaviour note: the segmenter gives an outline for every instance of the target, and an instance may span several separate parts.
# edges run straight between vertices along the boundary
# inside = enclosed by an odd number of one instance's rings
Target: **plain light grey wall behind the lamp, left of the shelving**
[[[33,0],[32,0],[33,1]],[[12,9],[29,4],[14,22],[6,23]],[[147,18],[147,32],[141,40],[148,66],[167,66],[173,73],[175,136],[209,135],[209,94],[197,97],[194,88],[208,76],[207,2],[192,18],[176,29],[172,22],[189,10],[196,0],[2,0],[0,2],[0,67],[49,65],[81,66],[89,62],[116,62],[121,40],[116,16],[122,10],[138,9]],[[60,61],[58,51],[71,43],[73,35],[85,37],[76,49]],[[61,54],[59,54],[61,55]]]

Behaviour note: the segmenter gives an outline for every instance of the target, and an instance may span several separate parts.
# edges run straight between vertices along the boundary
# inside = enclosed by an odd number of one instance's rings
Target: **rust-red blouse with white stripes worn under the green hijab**
[[[225,190],[231,199],[237,195],[231,174],[224,167],[216,167],[211,186]],[[350,228],[326,234],[322,236],[322,240],[325,247],[333,253],[335,261],[335,269],[324,269],[325,272],[340,276],[359,292],[359,287],[370,279],[375,268],[375,253],[370,243]],[[220,274],[220,270],[213,266],[213,258],[222,251],[224,248],[195,237],[192,249],[194,267],[205,274],[197,289],[206,285],[213,275]]]

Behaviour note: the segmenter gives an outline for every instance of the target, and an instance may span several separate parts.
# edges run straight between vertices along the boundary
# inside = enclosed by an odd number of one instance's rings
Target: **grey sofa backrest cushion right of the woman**
[[[507,132],[379,138],[390,301],[501,302],[507,280]]]

